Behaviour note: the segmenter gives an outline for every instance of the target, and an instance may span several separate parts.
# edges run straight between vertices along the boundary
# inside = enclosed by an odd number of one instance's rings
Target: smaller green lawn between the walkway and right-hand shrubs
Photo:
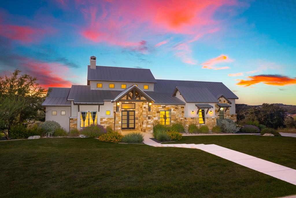
[[[296,138],[258,135],[184,136],[173,144],[216,144],[296,169]]]

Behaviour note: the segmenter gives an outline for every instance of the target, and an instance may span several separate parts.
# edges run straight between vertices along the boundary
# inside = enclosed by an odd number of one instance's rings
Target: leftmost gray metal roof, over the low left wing
[[[70,88],[49,87],[49,96],[46,97],[42,106],[71,106],[71,102],[67,101]]]

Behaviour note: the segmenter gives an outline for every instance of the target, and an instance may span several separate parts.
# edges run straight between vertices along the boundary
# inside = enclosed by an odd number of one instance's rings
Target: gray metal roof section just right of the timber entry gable
[[[185,102],[178,99],[176,96],[172,96],[170,93],[156,93],[154,91],[145,91],[145,93],[155,100],[153,104],[185,104]]]

